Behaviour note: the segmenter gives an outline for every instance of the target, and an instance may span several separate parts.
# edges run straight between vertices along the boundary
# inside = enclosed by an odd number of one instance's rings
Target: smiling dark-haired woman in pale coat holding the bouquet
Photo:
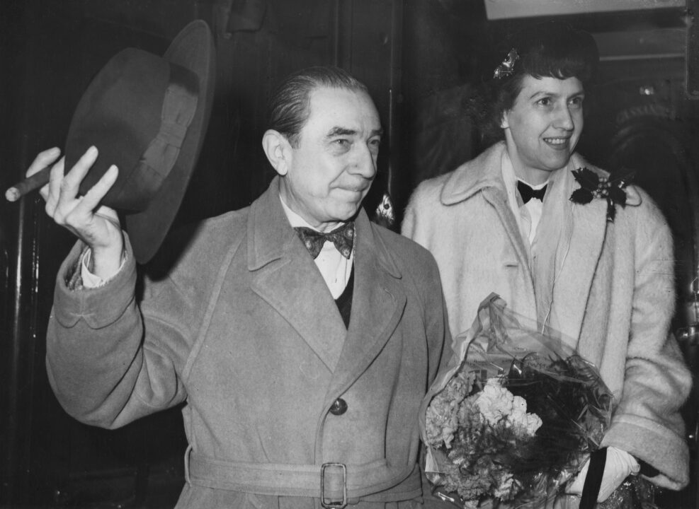
[[[591,35],[545,23],[508,48],[477,115],[499,141],[421,183],[403,233],[437,259],[453,335],[494,292],[598,366],[615,397],[598,501],[641,467],[655,484],[683,488],[688,451],[678,409],[691,376],[668,334],[669,228],[642,189],[607,181],[575,153],[598,62]],[[580,493],[586,470],[569,491]]]

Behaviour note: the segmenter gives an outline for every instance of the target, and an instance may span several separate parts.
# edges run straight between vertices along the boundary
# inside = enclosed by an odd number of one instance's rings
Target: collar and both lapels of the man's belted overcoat
[[[401,271],[363,209],[356,219],[352,317],[343,324],[334,299],[279,199],[279,177],[251,206],[248,269],[251,288],[287,320],[336,383],[358,377],[397,326],[406,297]],[[336,367],[341,366],[341,369]]]

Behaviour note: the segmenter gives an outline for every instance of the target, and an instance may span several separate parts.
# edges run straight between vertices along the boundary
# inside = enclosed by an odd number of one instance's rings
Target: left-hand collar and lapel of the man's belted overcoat
[[[248,220],[251,289],[335,369],[347,330],[323,276],[281,206],[278,177],[251,206]]]

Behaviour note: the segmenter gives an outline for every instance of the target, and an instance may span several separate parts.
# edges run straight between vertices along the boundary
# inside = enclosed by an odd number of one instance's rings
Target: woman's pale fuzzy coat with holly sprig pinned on
[[[572,169],[608,176],[574,154],[546,192],[539,228],[551,214],[560,241],[538,253],[549,258],[535,281],[532,255],[506,197],[504,151],[504,143],[496,144],[453,172],[423,182],[407,207],[402,231],[437,260],[451,333],[472,325],[490,293],[520,315],[562,332],[599,368],[614,394],[603,445],[659,469],[657,484],[685,486],[688,451],[678,408],[691,376],[668,334],[674,269],[662,214],[632,186],[627,205],[615,206],[613,222],[607,220],[605,199],[574,204],[569,197],[579,185]]]

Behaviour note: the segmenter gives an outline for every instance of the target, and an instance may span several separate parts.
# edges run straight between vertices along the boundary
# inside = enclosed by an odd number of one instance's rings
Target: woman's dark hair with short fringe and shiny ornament
[[[595,40],[567,23],[547,21],[532,25],[513,35],[506,47],[467,106],[481,141],[487,145],[504,139],[500,127],[502,114],[513,107],[525,76],[578,78],[584,88],[589,88],[597,73],[599,54]],[[515,59],[510,59],[514,60],[513,66],[501,68],[512,49],[517,54]],[[499,68],[504,72],[495,77]]]

